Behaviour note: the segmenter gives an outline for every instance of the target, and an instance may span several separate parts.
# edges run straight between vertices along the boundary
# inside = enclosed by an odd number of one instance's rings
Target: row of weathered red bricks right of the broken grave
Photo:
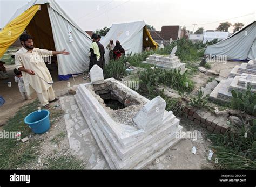
[[[227,125],[227,120],[223,117],[217,117],[211,112],[206,112],[195,107],[185,107],[184,112],[186,117],[194,121],[197,125],[207,128],[208,131],[213,133],[225,133],[229,125]]]

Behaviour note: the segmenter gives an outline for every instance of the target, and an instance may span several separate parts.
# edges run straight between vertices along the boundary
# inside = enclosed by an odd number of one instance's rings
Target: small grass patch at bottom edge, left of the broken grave
[[[46,169],[84,169],[83,161],[73,155],[62,155],[55,159],[49,158],[47,165]]]

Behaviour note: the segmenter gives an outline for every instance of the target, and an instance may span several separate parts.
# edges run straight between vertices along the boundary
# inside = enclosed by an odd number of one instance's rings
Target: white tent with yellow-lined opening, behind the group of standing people
[[[106,47],[110,39],[118,40],[126,54],[141,53],[145,47],[157,48],[144,21],[113,24],[100,42]]]

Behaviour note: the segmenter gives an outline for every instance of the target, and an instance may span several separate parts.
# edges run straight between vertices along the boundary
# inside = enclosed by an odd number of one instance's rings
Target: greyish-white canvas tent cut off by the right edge
[[[207,46],[205,55],[226,55],[228,60],[254,60],[256,58],[256,21],[227,39]]]

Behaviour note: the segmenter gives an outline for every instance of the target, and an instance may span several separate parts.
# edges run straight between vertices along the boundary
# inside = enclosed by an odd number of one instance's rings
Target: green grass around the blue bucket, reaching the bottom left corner
[[[41,140],[33,139],[35,135],[28,125],[24,123],[24,118],[33,111],[38,110],[39,101],[23,106],[16,114],[9,118],[3,126],[4,131],[21,132],[21,139],[32,136],[27,142],[17,141],[16,139],[1,139],[0,141],[0,169],[17,169],[24,164],[28,164],[37,159],[37,150]],[[56,119],[62,112],[50,109],[50,119]],[[53,122],[51,123],[53,125]]]

